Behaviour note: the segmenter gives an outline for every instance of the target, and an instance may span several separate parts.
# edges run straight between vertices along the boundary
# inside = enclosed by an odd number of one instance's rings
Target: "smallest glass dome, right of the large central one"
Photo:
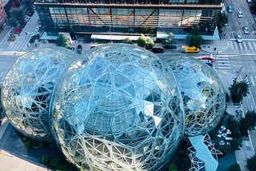
[[[225,90],[220,78],[205,63],[189,57],[167,61],[182,93],[186,115],[186,134],[209,133],[221,120],[226,106]]]

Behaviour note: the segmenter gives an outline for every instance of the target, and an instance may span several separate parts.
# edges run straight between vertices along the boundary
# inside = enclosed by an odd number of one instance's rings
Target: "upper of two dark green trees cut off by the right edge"
[[[248,130],[255,130],[256,126],[256,113],[254,111],[248,111],[245,117],[242,117],[239,121],[239,128],[242,136],[248,137]]]

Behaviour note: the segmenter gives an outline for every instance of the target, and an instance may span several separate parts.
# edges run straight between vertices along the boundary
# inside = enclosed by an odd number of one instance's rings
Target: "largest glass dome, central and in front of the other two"
[[[86,170],[158,169],[185,131],[170,67],[138,46],[84,52],[63,72],[51,107],[55,140]]]

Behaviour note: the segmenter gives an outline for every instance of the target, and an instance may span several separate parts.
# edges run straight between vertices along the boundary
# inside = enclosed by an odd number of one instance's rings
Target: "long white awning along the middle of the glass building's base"
[[[122,40],[124,38],[130,38],[132,41],[136,41],[141,36],[126,36],[126,35],[102,35],[102,34],[91,34],[91,39],[97,39],[97,40]],[[152,38],[154,41],[156,41],[155,37],[147,37],[145,38]]]

